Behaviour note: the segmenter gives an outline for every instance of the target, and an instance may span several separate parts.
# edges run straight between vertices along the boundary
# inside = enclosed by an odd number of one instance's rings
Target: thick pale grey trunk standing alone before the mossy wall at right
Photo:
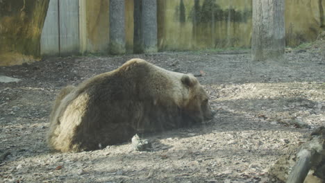
[[[253,60],[283,60],[285,50],[284,0],[253,0]]]

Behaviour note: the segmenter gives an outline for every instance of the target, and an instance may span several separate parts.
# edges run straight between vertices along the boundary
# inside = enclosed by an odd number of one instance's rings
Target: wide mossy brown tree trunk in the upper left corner
[[[0,1],[0,65],[40,58],[40,37],[49,0]]]

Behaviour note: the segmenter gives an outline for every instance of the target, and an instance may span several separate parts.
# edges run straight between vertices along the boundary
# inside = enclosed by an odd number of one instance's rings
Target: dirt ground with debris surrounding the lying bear
[[[131,58],[202,76],[215,118],[147,134],[152,151],[130,142],[83,153],[53,153],[45,134],[51,104]],[[0,67],[0,182],[272,182],[269,167],[325,125],[325,44],[285,53],[284,63],[251,62],[248,50],[47,58]]]

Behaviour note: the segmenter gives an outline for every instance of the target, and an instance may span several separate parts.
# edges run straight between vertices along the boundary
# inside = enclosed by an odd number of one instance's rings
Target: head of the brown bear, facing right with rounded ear
[[[202,122],[213,119],[214,112],[211,111],[209,96],[200,85],[197,78],[192,75],[184,74],[181,82],[188,88],[188,96],[185,97],[185,115],[194,122]]]

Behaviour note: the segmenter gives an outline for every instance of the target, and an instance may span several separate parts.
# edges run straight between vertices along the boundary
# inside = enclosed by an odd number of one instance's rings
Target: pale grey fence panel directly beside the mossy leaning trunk
[[[41,35],[40,53],[59,55],[58,0],[50,0]]]

